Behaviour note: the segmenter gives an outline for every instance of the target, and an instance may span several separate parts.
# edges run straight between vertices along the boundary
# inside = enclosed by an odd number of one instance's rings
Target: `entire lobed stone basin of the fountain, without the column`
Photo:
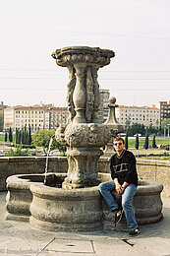
[[[101,198],[98,187],[64,189],[66,173],[21,174],[7,179],[6,220],[26,221],[37,228],[51,231],[94,231],[114,228],[114,215]],[[101,182],[110,180],[109,173],[99,173]],[[55,186],[55,187],[54,187]],[[133,199],[139,224],[162,220],[162,184],[140,180]],[[117,196],[117,195],[116,195]]]

